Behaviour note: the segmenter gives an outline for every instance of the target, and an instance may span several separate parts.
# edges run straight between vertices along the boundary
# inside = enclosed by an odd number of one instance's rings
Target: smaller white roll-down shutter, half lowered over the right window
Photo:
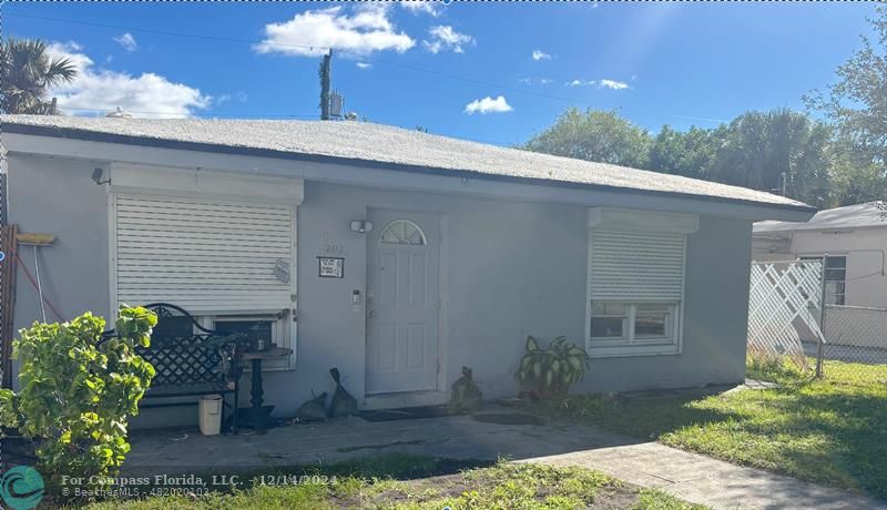
[[[683,234],[591,231],[592,299],[680,302]]]

